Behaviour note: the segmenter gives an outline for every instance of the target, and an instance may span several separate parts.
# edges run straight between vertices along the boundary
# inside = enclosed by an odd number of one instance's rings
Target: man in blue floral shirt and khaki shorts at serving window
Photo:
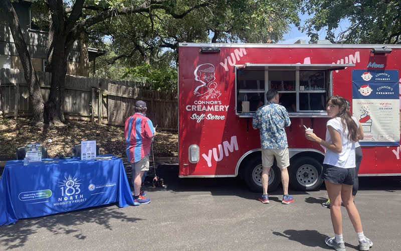
[[[266,93],[267,104],[258,108],[252,120],[252,127],[260,132],[262,148],[262,185],[263,194],[259,197],[262,203],[269,203],[267,184],[269,183],[269,171],[276,157],[277,166],[281,170],[281,183],[283,184],[283,200],[281,203],[290,204],[294,198],[288,194],[288,170],[290,158],[288,154],[287,135],[284,127],[291,125],[290,117],[284,106],[279,104],[279,93],[271,89]]]

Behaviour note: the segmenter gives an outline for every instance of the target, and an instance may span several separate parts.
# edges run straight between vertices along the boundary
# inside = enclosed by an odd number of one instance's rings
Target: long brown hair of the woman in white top
[[[346,99],[341,96],[335,95],[327,99],[326,104],[329,101],[331,101],[332,104],[338,105],[339,111],[336,117],[341,118],[341,123],[343,127],[346,127],[348,129],[348,140],[352,142],[357,142],[358,138],[356,132],[358,131],[358,127],[356,126],[355,121],[351,118],[351,113],[347,110]]]

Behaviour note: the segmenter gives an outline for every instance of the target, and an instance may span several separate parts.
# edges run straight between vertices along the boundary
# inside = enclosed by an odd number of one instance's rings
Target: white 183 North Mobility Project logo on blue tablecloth
[[[54,206],[71,204],[71,203],[79,203],[86,201],[83,194],[81,193],[80,186],[82,183],[79,183],[82,179],[78,180],[78,178],[71,178],[71,175],[68,178],[64,177],[63,182],[59,182],[61,190],[61,197],[58,198],[58,202],[53,203]]]

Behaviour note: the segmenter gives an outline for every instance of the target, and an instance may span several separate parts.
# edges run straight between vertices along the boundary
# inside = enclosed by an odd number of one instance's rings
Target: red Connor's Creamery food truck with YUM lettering
[[[315,190],[324,149],[305,127],[325,137],[326,100],[341,95],[362,124],[359,175],[401,175],[401,45],[198,44],[178,49],[179,177],[236,177],[262,191],[259,130],[252,118],[270,88],[279,91],[286,128],[290,185]],[[269,191],[280,184],[270,169]]]

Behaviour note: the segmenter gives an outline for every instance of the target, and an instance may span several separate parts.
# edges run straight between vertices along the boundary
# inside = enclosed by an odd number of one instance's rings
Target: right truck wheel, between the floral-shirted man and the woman
[[[313,191],[319,189],[323,180],[322,164],[312,157],[296,159],[289,168],[290,184],[298,191]]]

